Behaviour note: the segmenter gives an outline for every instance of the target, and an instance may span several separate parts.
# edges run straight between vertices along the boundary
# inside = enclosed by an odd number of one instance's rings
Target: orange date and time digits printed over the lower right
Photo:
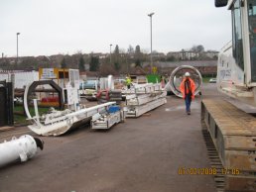
[[[220,172],[217,172],[217,169],[214,167],[209,168],[195,168],[195,167],[179,167],[178,174],[179,175],[216,175],[216,174],[231,174],[231,175],[239,175],[240,170],[238,168],[222,168]]]

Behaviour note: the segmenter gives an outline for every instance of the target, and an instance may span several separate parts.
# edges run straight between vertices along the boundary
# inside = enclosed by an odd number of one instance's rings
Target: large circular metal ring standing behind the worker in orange
[[[180,91],[180,85],[183,81],[185,72],[191,73],[191,78],[195,83],[195,91],[194,95],[198,94],[202,85],[202,78],[200,75],[200,72],[190,65],[183,65],[177,67],[171,74],[169,82],[171,85],[171,90],[174,94],[176,94],[178,97],[183,97],[181,91]]]

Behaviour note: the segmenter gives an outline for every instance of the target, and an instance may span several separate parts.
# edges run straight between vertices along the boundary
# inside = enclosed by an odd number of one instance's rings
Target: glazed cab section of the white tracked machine
[[[244,83],[256,85],[256,0],[233,0],[232,53],[236,64],[244,71]]]

